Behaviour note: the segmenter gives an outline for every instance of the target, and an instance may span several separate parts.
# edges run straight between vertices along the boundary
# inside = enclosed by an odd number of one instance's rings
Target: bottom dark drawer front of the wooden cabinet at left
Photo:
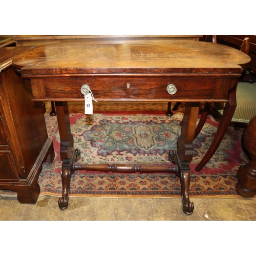
[[[16,173],[11,151],[0,151],[0,179],[16,180]]]

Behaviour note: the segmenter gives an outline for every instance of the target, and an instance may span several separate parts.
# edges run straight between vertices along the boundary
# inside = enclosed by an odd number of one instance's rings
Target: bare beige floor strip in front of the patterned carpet
[[[34,205],[0,199],[0,220],[256,220],[256,198],[191,198],[192,215],[182,211],[180,198],[70,198],[66,210],[57,197],[39,197]]]

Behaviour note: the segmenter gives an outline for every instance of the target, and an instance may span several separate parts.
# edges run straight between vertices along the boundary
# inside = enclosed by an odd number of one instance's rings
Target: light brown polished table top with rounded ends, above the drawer
[[[239,50],[195,40],[95,45],[60,42],[13,58],[28,75],[134,73],[241,73],[250,57]]]

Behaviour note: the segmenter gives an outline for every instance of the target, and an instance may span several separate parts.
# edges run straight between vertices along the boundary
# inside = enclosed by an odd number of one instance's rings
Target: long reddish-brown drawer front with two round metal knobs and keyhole
[[[83,84],[90,86],[94,98],[98,100],[212,99],[215,90],[215,79],[211,78],[92,76],[45,78],[44,82],[33,84],[37,90],[37,95],[33,93],[34,98],[68,100],[83,99],[80,92]],[[177,92],[174,95],[167,92],[168,84],[175,85]]]

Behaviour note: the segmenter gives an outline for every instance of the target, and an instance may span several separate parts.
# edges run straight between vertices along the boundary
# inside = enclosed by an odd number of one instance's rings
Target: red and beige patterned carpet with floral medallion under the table
[[[183,117],[181,105],[172,117],[165,116],[167,103],[94,102],[94,114],[84,115],[82,104],[69,104],[71,132],[83,163],[166,164],[170,149],[176,149]],[[199,116],[200,118],[200,116]],[[40,196],[61,195],[61,161],[56,117],[46,114],[53,137],[55,160],[45,163],[39,176]],[[215,155],[200,173],[196,165],[207,151],[218,122],[209,116],[196,140],[190,164],[190,197],[240,197],[236,173],[248,162],[241,147],[243,129],[229,127]],[[75,172],[70,197],[180,197],[180,181],[174,174],[113,174]]]

